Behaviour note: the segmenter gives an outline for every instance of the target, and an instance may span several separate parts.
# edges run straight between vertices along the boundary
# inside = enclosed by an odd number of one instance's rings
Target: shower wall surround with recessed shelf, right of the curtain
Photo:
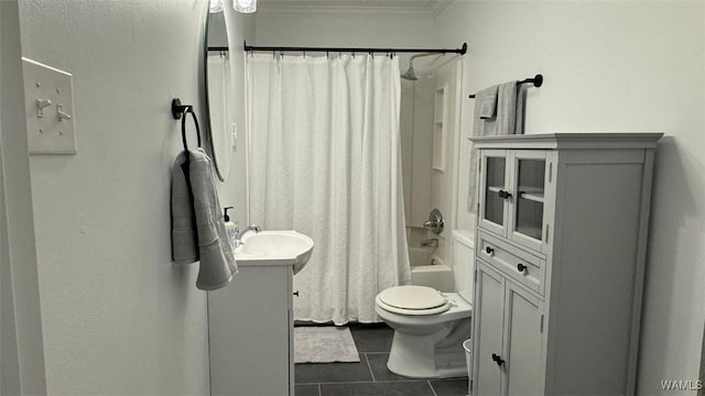
[[[404,215],[410,251],[419,249],[422,239],[437,238],[440,243],[433,256],[451,264],[449,235],[456,227],[455,194],[458,183],[467,179],[460,176],[467,170],[458,167],[458,146],[463,144],[458,128],[460,77],[458,61],[435,61],[441,66],[421,75],[419,80],[401,79]],[[434,208],[445,216],[446,231],[440,235],[423,229]]]

